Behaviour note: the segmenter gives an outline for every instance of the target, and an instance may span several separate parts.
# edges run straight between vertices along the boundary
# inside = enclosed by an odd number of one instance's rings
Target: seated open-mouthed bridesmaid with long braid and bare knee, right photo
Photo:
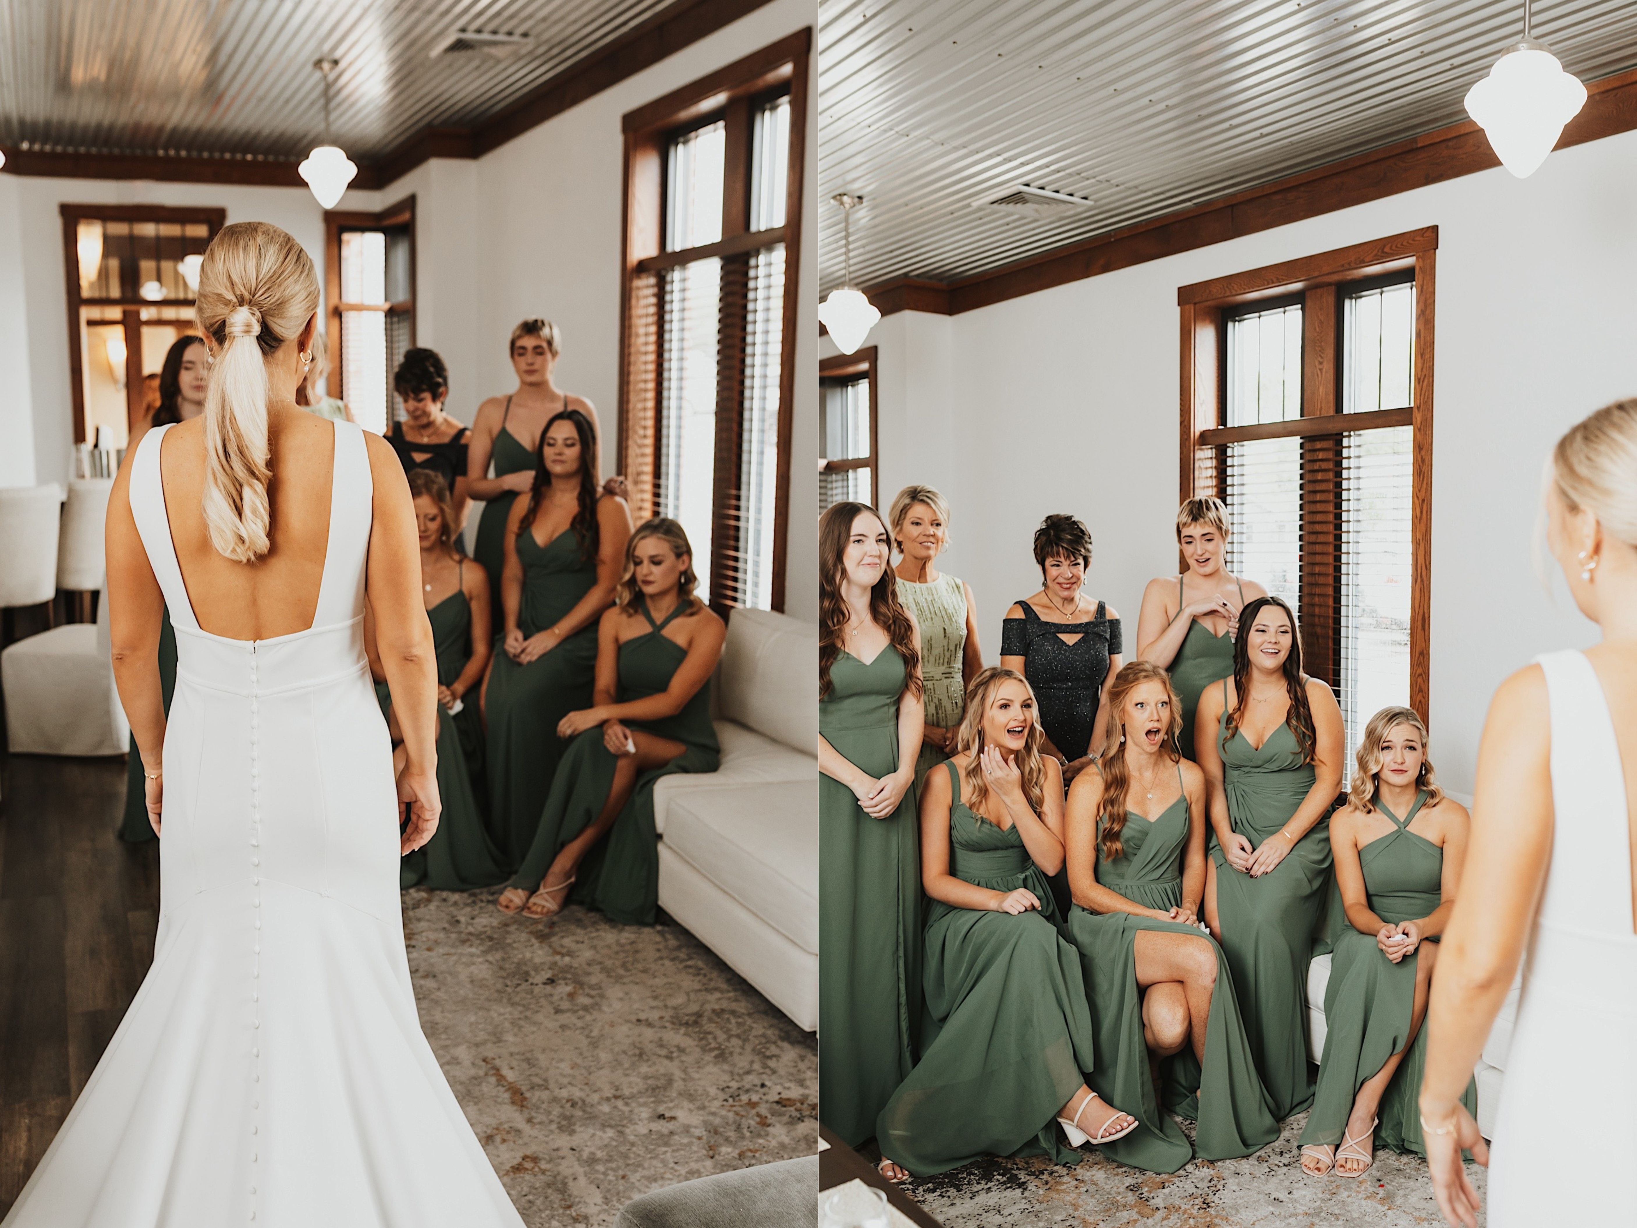
[[[1278,1138],[1278,1122],[1228,959],[1198,925],[1205,773],[1177,750],[1182,714],[1157,665],[1121,668],[1108,704],[1116,750],[1076,778],[1066,837],[1067,932],[1100,1058],[1090,1084],[1141,1122],[1108,1154],[1149,1172],[1175,1172],[1195,1151],[1249,1156]],[[1166,1108],[1198,1122],[1193,1146]]]

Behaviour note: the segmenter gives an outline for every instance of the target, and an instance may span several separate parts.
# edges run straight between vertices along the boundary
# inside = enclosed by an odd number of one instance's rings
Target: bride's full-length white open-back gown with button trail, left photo
[[[421,1033],[363,652],[373,483],[336,422],[309,630],[201,630],[151,431],[131,512],[177,632],[154,963],[3,1228],[521,1228]]]

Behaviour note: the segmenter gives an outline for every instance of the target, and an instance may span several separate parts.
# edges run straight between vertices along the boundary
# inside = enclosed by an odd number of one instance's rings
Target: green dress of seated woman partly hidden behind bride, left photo
[[[465,560],[462,560],[465,568]],[[437,645],[437,684],[449,686],[471,660],[471,603],[455,589],[426,612]],[[375,684],[381,712],[391,707],[386,683]],[[493,887],[506,878],[483,825],[483,717],[471,696],[458,712],[437,706],[437,792],[444,814],[437,830],[398,866],[398,886],[434,891]]]

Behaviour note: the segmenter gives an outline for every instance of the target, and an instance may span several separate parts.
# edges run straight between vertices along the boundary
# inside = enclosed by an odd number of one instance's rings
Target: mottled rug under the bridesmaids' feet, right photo
[[[1409,1228],[1441,1226],[1426,1163],[1377,1154],[1364,1177],[1308,1177],[1297,1138],[1308,1115],[1246,1159],[1193,1161],[1154,1176],[1102,1159],[1074,1167],[1044,1159],[984,1159],[917,1181],[910,1197],[946,1228]],[[1470,1166],[1483,1192],[1483,1169]],[[1480,1218],[1480,1225],[1483,1220]]]

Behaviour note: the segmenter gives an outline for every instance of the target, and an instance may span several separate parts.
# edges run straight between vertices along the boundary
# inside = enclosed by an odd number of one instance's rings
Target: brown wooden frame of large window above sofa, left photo
[[[658,494],[653,457],[637,455],[638,439],[656,439],[660,414],[660,329],[656,305],[638,305],[634,283],[640,275],[671,269],[712,255],[784,244],[784,303],[779,350],[778,470],[774,476],[774,527],[771,599],[784,609],[784,573],[791,516],[791,434],[796,398],[796,319],[800,305],[802,172],[807,160],[809,61],[812,29],[799,29],[761,51],[728,64],[707,77],[673,90],[663,98],[624,116],[624,234],[620,251],[620,386],[619,457],[632,490],[634,511],[648,514]],[[784,224],[750,231],[751,102],[773,90],[789,88],[791,131],[786,170]],[[665,151],[679,131],[707,116],[727,121],[727,182],[724,183],[722,239],[719,242],[665,251]],[[642,313],[642,319],[638,319]],[[743,342],[738,345],[743,357]],[[719,350],[720,354],[720,350]],[[712,522],[712,552],[722,558],[724,545],[737,530],[738,429],[743,406],[743,362],[717,365],[717,467]],[[642,424],[642,431],[635,429]],[[714,562],[714,560],[712,560]],[[712,606],[728,604],[725,568],[712,567]]]

